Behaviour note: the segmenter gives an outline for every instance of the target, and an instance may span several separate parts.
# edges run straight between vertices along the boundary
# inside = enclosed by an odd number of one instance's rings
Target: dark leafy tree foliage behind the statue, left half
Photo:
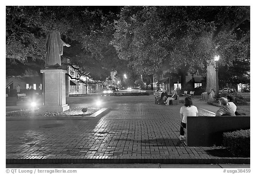
[[[117,65],[124,65],[110,44],[114,33],[114,19],[119,7],[76,6],[12,6],[6,7],[7,63],[34,63],[37,71],[44,68],[46,57],[45,35],[54,21],[64,42],[62,58],[80,75],[103,81]],[[38,61],[40,64],[38,64]]]

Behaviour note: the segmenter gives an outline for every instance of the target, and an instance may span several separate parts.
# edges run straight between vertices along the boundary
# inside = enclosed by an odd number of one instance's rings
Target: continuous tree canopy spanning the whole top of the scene
[[[217,54],[228,69],[250,64],[249,6],[7,6],[7,63],[42,69],[54,21],[71,45],[62,57],[95,81],[170,70],[184,83]]]

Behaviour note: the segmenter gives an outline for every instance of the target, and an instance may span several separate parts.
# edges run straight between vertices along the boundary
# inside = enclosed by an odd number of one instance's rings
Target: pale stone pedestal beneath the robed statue
[[[44,79],[44,111],[66,111],[69,109],[66,104],[66,70],[41,70]]]

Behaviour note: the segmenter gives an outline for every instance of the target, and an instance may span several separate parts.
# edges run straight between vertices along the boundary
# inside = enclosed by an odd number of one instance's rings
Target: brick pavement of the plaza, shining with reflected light
[[[180,106],[115,104],[94,120],[6,121],[6,162],[250,163],[209,153],[220,147],[186,147],[178,139]]]

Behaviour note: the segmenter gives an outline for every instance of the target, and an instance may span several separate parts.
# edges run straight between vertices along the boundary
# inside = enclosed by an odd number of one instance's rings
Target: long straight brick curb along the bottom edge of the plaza
[[[229,157],[177,157],[177,156],[84,156],[80,159],[42,159],[44,157],[29,157],[29,159],[6,159],[6,164],[64,164],[64,163],[162,163],[162,164],[250,164],[250,158],[229,158]]]

